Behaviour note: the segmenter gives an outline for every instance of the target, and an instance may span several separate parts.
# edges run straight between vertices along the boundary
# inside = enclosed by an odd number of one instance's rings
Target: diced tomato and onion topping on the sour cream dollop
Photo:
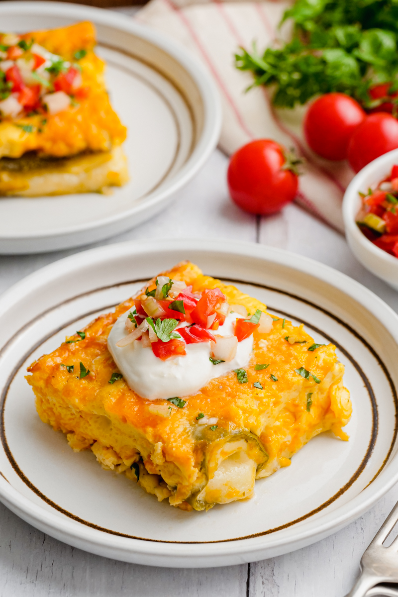
[[[231,336],[217,334],[229,313],[235,312],[235,333]],[[194,293],[185,282],[158,276],[134,300],[128,313],[125,328],[127,336],[116,346],[128,346],[135,340],[143,347],[151,347],[155,356],[165,361],[174,356],[186,355],[187,344],[211,343],[211,361],[232,361],[239,342],[251,336],[254,330],[269,333],[273,320],[257,309],[249,318],[246,307],[230,305],[220,288],[209,288]]]

